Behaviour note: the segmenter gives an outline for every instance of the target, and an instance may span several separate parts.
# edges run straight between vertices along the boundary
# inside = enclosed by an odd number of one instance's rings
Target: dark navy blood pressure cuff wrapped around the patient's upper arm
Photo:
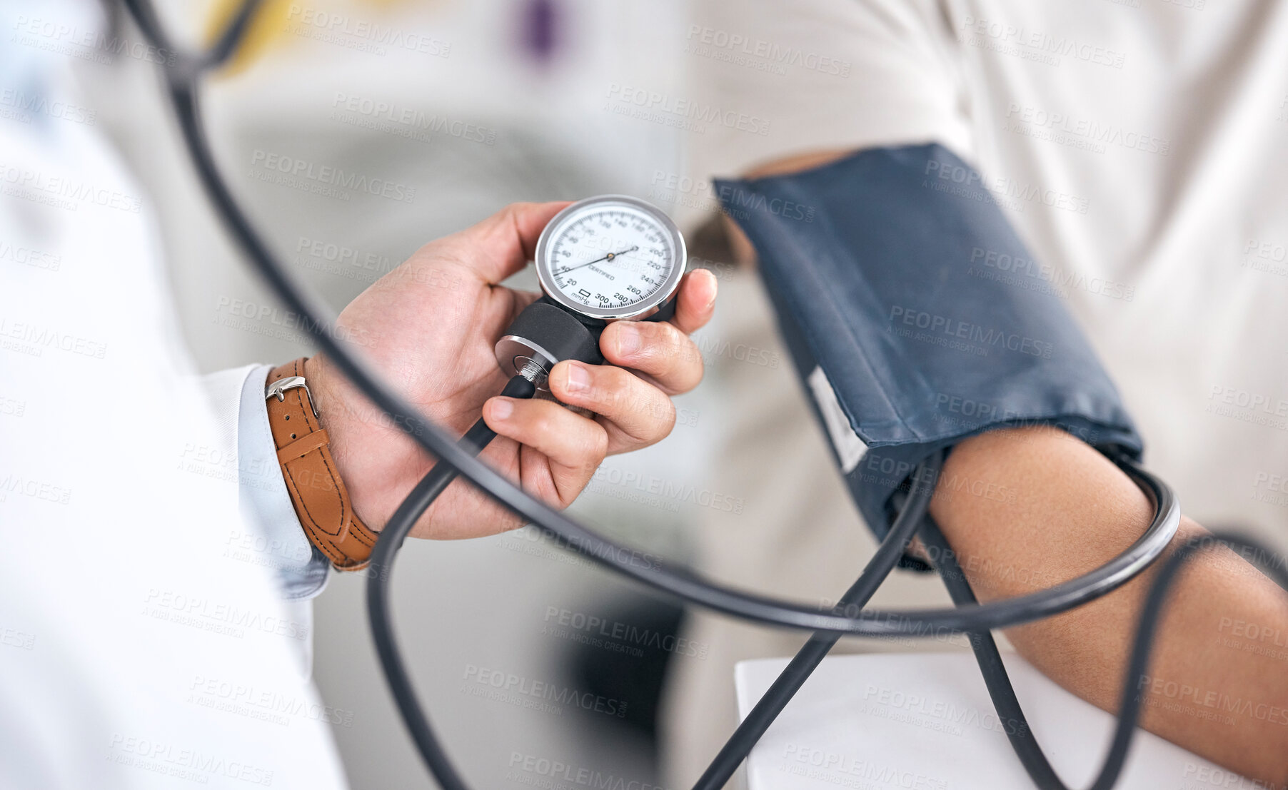
[[[716,184],[756,248],[796,369],[878,538],[917,463],[974,434],[1054,425],[1139,457],[1140,436],[1063,284],[1033,264],[993,198],[1005,183],[940,145],[913,145]],[[1037,203],[1025,207],[1047,210]],[[942,479],[945,489],[1007,497],[979,481]]]

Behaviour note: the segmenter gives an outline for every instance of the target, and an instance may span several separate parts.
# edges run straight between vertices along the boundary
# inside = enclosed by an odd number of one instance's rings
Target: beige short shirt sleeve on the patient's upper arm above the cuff
[[[696,179],[826,149],[936,142],[971,157],[935,0],[697,0],[685,50],[692,94],[755,121],[694,135]]]

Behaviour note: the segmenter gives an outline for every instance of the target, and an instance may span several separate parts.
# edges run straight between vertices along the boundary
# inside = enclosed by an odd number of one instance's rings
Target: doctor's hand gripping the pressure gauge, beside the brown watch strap
[[[537,293],[498,283],[532,259],[546,223],[568,203],[515,203],[482,223],[430,242],[363,291],[337,319],[375,373],[421,414],[462,435],[482,413],[497,437],[480,458],[553,507],[567,507],[605,454],[648,446],[671,432],[670,395],[702,378],[688,335],[711,318],[715,277],[690,271],[675,317],[614,322],[600,338],[607,364],[562,362],[549,387],[582,417],[550,400],[497,398],[507,377],[493,346]],[[305,364],[313,401],[358,516],[383,529],[435,463],[399,426],[349,383],[325,355]],[[412,535],[474,538],[520,520],[465,480],[429,508]]]

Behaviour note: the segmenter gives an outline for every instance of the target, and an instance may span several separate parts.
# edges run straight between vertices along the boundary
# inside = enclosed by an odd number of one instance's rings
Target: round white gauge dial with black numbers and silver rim
[[[537,242],[542,288],[594,318],[643,317],[666,302],[684,260],[684,239],[665,214],[618,196],[573,203]]]

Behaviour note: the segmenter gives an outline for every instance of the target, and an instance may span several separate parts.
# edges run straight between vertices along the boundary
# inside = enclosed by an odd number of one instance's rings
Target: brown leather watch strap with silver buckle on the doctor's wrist
[[[274,383],[290,377],[300,377],[300,381],[287,382],[292,386],[274,391]],[[268,374],[268,425],[277,461],[282,464],[295,515],[313,546],[337,570],[359,570],[371,558],[376,534],[353,512],[349,491],[331,457],[330,439],[313,412],[303,377],[304,359],[286,363]]]

